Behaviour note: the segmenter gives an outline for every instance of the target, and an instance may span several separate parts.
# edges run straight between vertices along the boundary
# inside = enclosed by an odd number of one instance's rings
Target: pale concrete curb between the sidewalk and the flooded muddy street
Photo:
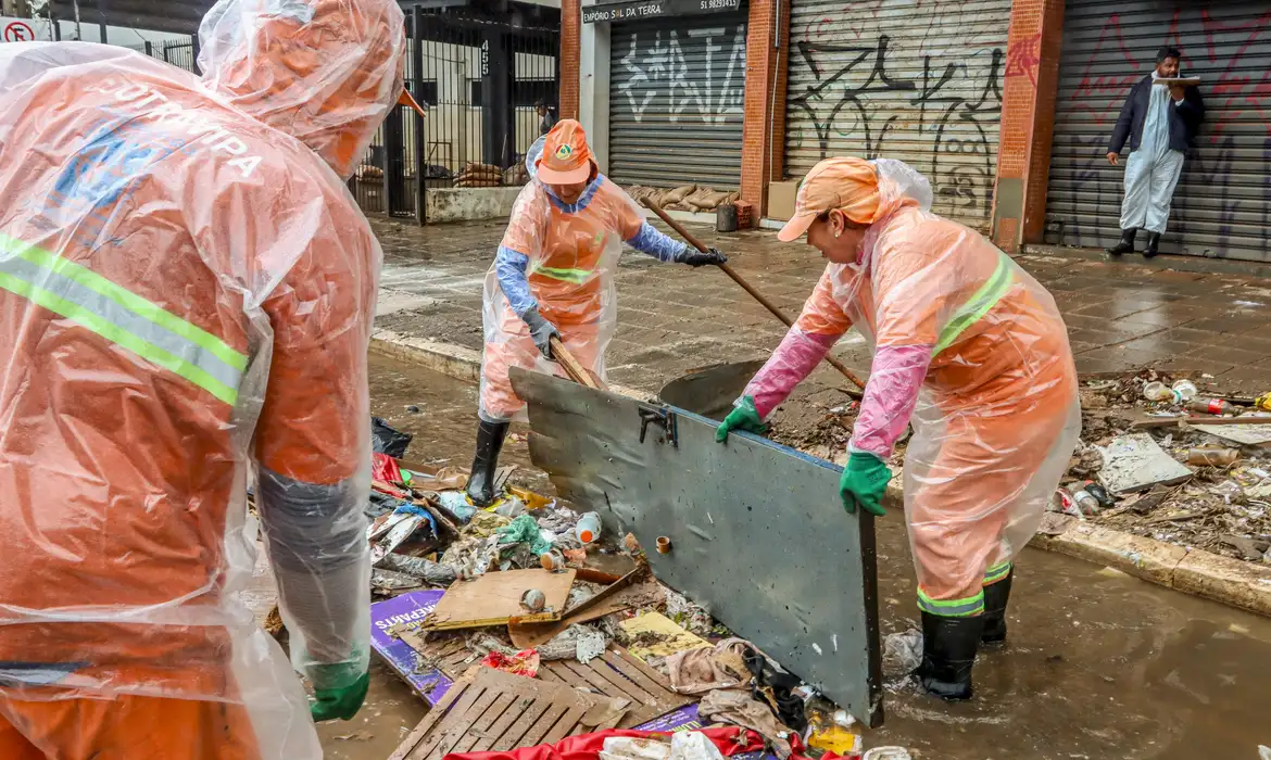
[[[463,346],[376,329],[371,333],[371,349],[456,380],[480,380],[480,352]],[[620,385],[611,385],[610,390],[638,399],[652,398],[648,393]],[[904,491],[896,480],[887,488],[887,494],[896,499],[904,498]],[[1271,566],[1229,559],[1200,549],[1185,549],[1088,522],[1075,522],[1056,536],[1038,534],[1031,544],[1038,549],[1112,567],[1183,594],[1271,616]]]

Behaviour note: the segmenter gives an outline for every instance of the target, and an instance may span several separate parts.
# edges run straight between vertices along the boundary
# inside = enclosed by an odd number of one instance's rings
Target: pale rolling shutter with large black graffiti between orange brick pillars
[[[793,0],[785,172],[831,156],[900,159],[934,211],[993,214],[1009,0]]]

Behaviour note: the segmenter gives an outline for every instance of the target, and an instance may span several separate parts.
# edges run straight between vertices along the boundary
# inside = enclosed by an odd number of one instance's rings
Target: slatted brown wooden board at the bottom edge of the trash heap
[[[630,699],[585,694],[564,684],[489,667],[456,682],[389,760],[441,760],[452,752],[503,752],[614,728]]]

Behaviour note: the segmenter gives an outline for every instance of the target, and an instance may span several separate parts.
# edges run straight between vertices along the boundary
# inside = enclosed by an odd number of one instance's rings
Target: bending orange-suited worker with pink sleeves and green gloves
[[[1077,372],[1050,294],[979,233],[929,212],[900,161],[840,158],[803,180],[780,233],[830,261],[803,313],[719,428],[764,419],[850,327],[873,363],[848,446],[844,507],[883,515],[887,460],[913,423],[905,512],[923,616],[923,686],[971,696],[981,642],[1005,639],[1016,554],[1080,433]]]

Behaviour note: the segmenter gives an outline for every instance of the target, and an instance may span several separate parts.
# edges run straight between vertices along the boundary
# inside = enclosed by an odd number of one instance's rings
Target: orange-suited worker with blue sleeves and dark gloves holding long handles
[[[526,154],[531,179],[512,207],[494,264],[486,276],[486,351],[480,372],[477,455],[468,497],[494,498],[494,470],[510,421],[525,403],[512,391],[511,367],[562,374],[550,362],[553,336],[599,376],[614,336],[614,268],[622,244],[665,263],[722,264],[644,221],[620,187],[600,173],[582,125],[557,122]]]

